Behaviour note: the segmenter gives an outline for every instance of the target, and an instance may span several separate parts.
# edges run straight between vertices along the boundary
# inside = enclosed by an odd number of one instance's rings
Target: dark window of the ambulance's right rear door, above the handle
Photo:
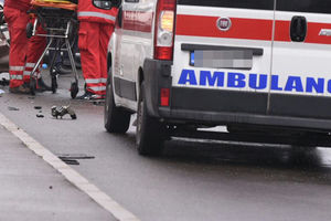
[[[277,10],[331,14],[331,0],[277,0]]]

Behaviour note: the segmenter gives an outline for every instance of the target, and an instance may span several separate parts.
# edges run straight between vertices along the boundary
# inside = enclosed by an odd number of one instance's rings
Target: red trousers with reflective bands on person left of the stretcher
[[[26,24],[30,21],[30,17],[26,12],[6,7],[4,18],[10,34],[9,86],[17,87],[30,81],[30,72],[32,69],[28,66],[32,66],[33,63],[36,63],[45,48],[46,40],[40,36],[33,36],[30,40],[26,38]],[[29,63],[26,63],[28,61]]]

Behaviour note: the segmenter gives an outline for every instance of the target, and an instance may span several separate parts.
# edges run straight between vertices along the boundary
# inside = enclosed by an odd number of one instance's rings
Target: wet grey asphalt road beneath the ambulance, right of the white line
[[[70,80],[54,95],[6,93],[0,112],[54,154],[94,156],[72,167],[142,221],[331,220],[331,149],[175,139],[164,156],[141,157],[135,127],[107,134],[103,106],[72,101]],[[51,117],[68,104],[77,120]]]

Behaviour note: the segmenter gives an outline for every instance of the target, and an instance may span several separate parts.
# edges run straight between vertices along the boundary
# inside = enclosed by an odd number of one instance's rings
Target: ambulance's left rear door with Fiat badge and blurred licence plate
[[[178,0],[172,108],[266,114],[274,0]]]

